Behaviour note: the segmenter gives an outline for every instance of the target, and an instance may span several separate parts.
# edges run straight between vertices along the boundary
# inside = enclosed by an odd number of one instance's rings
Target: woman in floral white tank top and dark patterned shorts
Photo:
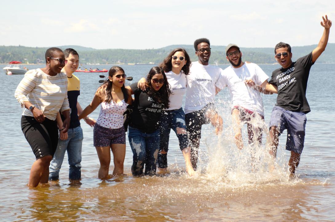
[[[93,130],[93,145],[100,161],[98,177],[102,179],[108,178],[111,149],[114,157],[113,175],[123,174],[126,154],[123,113],[127,103],[132,102],[130,92],[124,86],[126,75],[123,68],[113,66],[108,74],[108,79],[97,89],[91,104],[79,115],[79,120],[83,119],[101,105]]]

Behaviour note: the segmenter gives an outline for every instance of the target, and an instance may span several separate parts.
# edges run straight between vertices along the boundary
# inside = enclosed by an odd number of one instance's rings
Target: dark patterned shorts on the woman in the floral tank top
[[[108,147],[112,144],[126,144],[126,132],[122,126],[118,129],[110,129],[98,124],[93,129],[93,146]]]

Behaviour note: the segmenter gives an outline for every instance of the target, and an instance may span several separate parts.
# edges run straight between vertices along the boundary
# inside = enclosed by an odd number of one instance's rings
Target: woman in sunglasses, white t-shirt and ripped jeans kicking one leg
[[[167,168],[167,151],[169,148],[170,130],[173,129],[179,140],[179,147],[184,155],[186,171],[195,173],[191,164],[191,151],[187,143],[185,113],[182,108],[183,96],[186,93],[186,75],[190,72],[191,60],[185,49],[174,49],[160,64],[170,85],[170,106],[162,111],[159,124],[159,153],[157,158],[158,173],[165,173]],[[144,80],[144,81],[143,81]],[[145,79],[139,81],[142,89]]]

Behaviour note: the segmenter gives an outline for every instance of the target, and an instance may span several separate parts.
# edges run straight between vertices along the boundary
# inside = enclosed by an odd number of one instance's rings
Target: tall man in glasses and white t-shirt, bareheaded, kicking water
[[[197,169],[198,149],[200,146],[201,126],[212,123],[216,133],[222,130],[222,118],[214,106],[216,85],[222,69],[208,65],[211,48],[206,38],[194,42],[198,61],[192,62],[190,74],[187,75],[187,90],[185,100],[185,121],[188,131],[188,142],[191,147],[191,162]]]

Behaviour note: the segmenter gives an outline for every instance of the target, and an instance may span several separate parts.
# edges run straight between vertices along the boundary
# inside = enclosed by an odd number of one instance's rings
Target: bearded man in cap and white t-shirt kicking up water
[[[220,88],[228,87],[232,99],[231,115],[236,146],[239,149],[243,148],[241,122],[247,123],[249,144],[255,142],[258,142],[258,145],[262,144],[262,129],[254,126],[255,123],[257,125],[264,121],[263,100],[259,91],[267,90],[266,92],[272,94],[277,93],[277,90],[268,84],[269,76],[258,65],[242,61],[242,52],[236,44],[229,44],[225,52],[231,66],[223,70]],[[248,87],[246,85],[248,80],[253,80],[261,87],[256,89]]]

